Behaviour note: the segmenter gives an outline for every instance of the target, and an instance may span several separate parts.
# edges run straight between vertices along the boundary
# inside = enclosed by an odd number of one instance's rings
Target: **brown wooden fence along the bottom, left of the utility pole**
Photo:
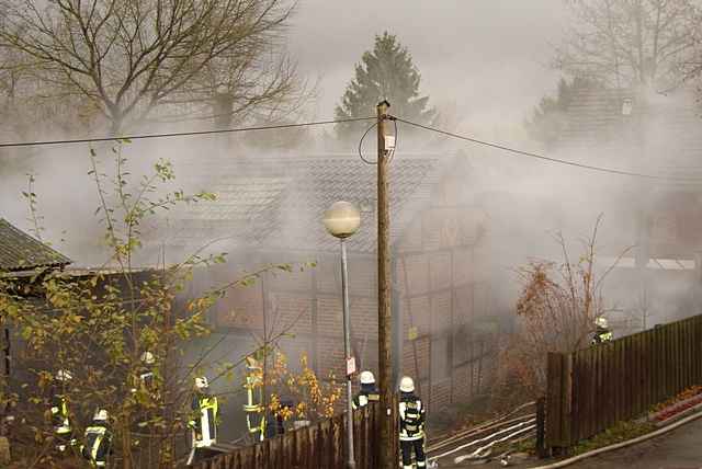
[[[380,404],[370,404],[353,413],[353,442],[356,469],[376,468],[381,424]],[[392,435],[397,435],[396,423]],[[392,445],[398,455],[397,438]],[[343,468],[346,414],[246,446],[200,462],[197,469],[327,469]]]

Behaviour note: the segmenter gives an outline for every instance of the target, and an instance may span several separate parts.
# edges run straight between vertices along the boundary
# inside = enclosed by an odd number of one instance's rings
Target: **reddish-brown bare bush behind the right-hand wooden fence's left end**
[[[543,396],[548,352],[589,346],[597,318],[607,312],[602,282],[612,270],[596,270],[598,218],[584,253],[573,260],[565,239],[556,234],[559,262],[535,260],[517,270],[522,283],[516,305],[517,328],[500,351],[496,397],[505,404]],[[499,402],[498,402],[499,404]]]

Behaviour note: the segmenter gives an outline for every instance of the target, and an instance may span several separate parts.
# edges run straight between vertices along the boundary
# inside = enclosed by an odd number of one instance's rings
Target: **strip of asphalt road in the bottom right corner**
[[[644,443],[585,459],[573,469],[702,469],[702,419]]]

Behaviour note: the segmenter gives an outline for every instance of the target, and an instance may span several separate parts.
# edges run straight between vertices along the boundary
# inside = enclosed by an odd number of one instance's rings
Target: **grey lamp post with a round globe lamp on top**
[[[361,226],[361,214],[355,206],[349,202],[336,202],[325,213],[325,227],[327,231],[335,238],[338,238],[341,244],[341,290],[343,298],[343,351],[347,362],[347,446],[349,469],[355,468],[355,459],[353,457],[353,408],[351,402],[353,399],[351,389],[351,375],[355,370],[355,363],[351,356],[351,318],[349,317],[349,285],[347,268],[347,245],[346,239],[358,231]]]

